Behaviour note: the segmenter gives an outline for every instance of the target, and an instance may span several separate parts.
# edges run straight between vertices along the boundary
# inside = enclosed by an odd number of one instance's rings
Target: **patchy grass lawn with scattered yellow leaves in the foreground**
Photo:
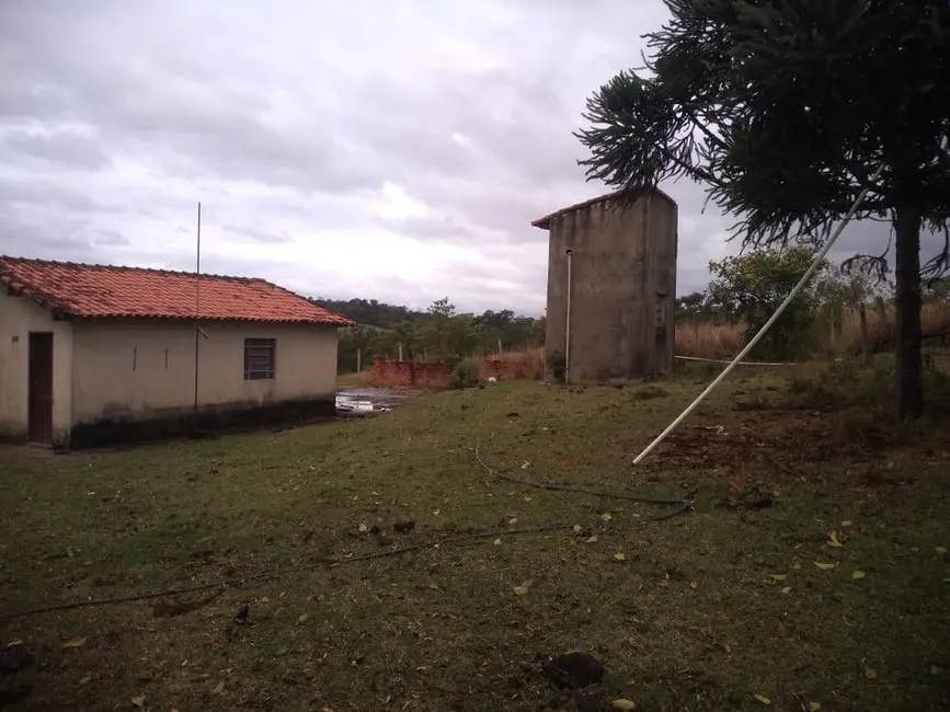
[[[639,710],[948,709],[950,437],[891,428],[877,378],[740,374],[637,468],[707,374],[504,382],[137,449],[0,450],[0,616],[302,567],[175,617],[159,599],[0,620],[0,646],[36,657],[0,689],[32,682],[10,709],[37,710],[574,710],[592,700],[537,659],[582,648],[606,668],[591,698]],[[655,520],[667,509],[493,479],[477,444],[517,478],[689,494],[695,512]]]

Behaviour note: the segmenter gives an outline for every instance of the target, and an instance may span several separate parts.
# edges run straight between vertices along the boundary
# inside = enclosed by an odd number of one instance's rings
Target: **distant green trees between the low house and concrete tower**
[[[357,360],[369,368],[374,356],[458,361],[468,356],[524,351],[543,345],[545,319],[505,309],[459,313],[448,298],[425,310],[375,299],[312,299],[356,322],[341,331],[337,371],[354,372]],[[357,355],[358,354],[358,355]]]

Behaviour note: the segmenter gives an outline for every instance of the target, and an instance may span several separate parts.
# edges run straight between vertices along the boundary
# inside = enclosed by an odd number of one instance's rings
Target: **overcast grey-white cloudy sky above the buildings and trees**
[[[543,310],[530,220],[605,192],[571,135],[660,0],[0,3],[0,253]],[[736,249],[697,186],[679,292]],[[875,230],[849,228],[847,252]]]

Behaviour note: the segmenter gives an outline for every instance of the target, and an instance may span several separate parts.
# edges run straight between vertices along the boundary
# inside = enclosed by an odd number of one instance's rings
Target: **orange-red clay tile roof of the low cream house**
[[[201,319],[353,322],[264,279],[203,274]],[[194,319],[193,273],[49,262],[0,255],[0,286],[61,317]]]

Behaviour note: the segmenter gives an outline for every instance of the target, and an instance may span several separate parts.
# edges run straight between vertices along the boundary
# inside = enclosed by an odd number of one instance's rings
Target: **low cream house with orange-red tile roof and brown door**
[[[332,414],[351,323],[264,279],[0,256],[0,438],[83,447]]]

